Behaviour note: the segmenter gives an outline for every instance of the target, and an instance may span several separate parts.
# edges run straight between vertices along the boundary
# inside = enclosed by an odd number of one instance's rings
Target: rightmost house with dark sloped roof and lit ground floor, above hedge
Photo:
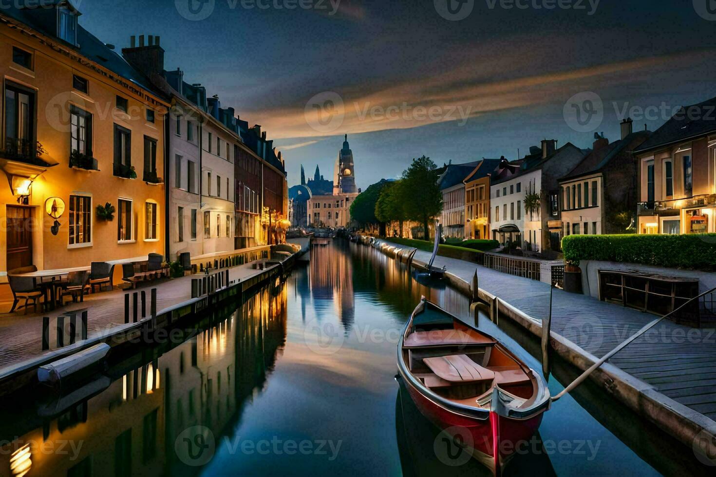
[[[716,98],[682,108],[634,152],[640,234],[716,232],[714,108]]]

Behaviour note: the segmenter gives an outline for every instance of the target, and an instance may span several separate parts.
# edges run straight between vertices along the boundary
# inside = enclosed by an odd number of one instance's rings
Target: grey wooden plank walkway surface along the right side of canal
[[[415,260],[428,262],[430,253],[418,250]],[[448,257],[437,257],[435,265],[448,267],[448,272],[468,283],[477,269],[483,290],[537,320],[549,313],[550,290],[546,283]],[[554,290],[552,306],[552,330],[597,358],[657,318],[563,290]],[[609,363],[653,385],[677,403],[716,420],[715,329],[697,330],[664,320]]]

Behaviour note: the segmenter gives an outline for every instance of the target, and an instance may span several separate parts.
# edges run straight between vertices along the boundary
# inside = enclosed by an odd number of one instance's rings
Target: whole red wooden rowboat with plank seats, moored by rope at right
[[[397,364],[420,412],[495,475],[536,433],[551,403],[538,373],[425,297],[405,325]]]

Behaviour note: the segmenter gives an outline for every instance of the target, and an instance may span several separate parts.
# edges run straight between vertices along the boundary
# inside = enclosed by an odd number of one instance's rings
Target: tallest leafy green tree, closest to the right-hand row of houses
[[[442,193],[437,185],[435,162],[430,157],[412,159],[410,167],[402,173],[402,200],[408,220],[422,223],[425,240],[430,240],[427,223],[442,211]]]

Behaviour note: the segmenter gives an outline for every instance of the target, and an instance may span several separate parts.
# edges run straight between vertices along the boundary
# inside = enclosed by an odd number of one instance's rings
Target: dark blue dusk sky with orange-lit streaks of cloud
[[[165,69],[329,178],[343,136],[365,189],[425,154],[591,147],[716,96],[713,0],[73,0],[117,49],[160,35]],[[714,11],[712,14],[711,11]]]

